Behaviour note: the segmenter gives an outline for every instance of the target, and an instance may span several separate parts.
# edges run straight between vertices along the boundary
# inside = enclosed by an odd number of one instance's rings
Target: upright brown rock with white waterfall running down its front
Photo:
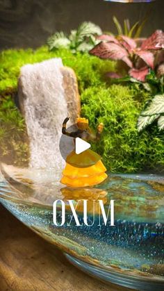
[[[65,161],[59,150],[63,120],[70,116],[68,125],[74,124],[80,113],[74,71],[64,67],[60,58],[25,65],[18,94],[29,138],[30,166],[63,169]],[[70,138],[67,147],[72,147]]]

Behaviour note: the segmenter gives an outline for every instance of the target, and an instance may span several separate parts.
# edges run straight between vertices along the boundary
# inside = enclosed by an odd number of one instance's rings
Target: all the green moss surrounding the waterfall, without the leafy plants
[[[138,85],[109,85],[104,73],[115,70],[115,63],[100,60],[88,53],[72,54],[67,50],[49,52],[47,47],[36,51],[7,50],[0,56],[0,147],[1,158],[8,157],[15,149],[13,163],[28,160],[24,119],[13,101],[17,92],[20,67],[60,57],[63,64],[72,67],[79,81],[81,115],[90,126],[104,123],[101,142],[92,144],[103,156],[110,172],[138,172],[164,168],[164,135],[156,124],[138,133],[136,122],[145,101],[151,98]],[[6,141],[6,142],[4,142]],[[10,149],[10,150],[9,150]],[[24,153],[24,154],[23,154]]]

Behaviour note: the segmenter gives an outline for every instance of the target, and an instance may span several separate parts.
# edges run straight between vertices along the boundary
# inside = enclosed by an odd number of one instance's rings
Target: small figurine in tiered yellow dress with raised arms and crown
[[[66,124],[69,118],[63,122],[62,132],[69,137],[81,138],[83,140],[99,140],[103,131],[103,124],[97,126],[97,134],[93,135],[88,126],[88,119],[78,118],[76,122],[77,131],[69,133],[66,130]],[[106,167],[101,162],[101,156],[87,149],[82,153],[76,154],[75,151],[69,153],[66,158],[66,166],[63,170],[63,177],[60,183],[71,188],[81,188],[97,185],[107,178]]]

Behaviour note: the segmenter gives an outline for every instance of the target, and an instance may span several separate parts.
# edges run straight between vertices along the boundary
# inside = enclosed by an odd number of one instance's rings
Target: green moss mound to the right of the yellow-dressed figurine
[[[149,94],[136,88],[111,85],[88,88],[81,95],[82,114],[91,126],[104,123],[104,135],[92,145],[111,172],[136,172],[164,166],[164,135],[156,128],[138,133],[136,123]]]

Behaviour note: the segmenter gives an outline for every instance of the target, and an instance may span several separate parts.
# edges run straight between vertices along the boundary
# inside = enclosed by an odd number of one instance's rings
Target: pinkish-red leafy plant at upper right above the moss
[[[149,69],[156,69],[158,65],[164,62],[164,33],[155,31],[149,38],[138,42],[126,35],[100,35],[97,37],[101,40],[90,54],[99,58],[110,60],[122,60],[124,66],[124,76],[129,75],[138,81],[145,81],[149,74]],[[111,78],[121,78],[122,74],[110,74]]]

